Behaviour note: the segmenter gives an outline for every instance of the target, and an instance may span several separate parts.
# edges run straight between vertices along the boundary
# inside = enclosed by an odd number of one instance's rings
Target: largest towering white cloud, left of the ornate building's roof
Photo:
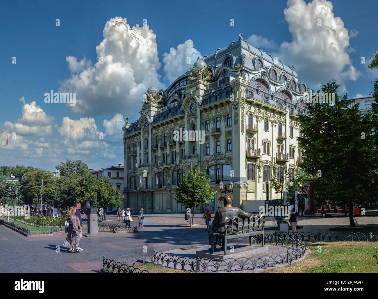
[[[72,109],[84,116],[125,109],[136,114],[150,86],[165,88],[157,73],[160,62],[156,35],[148,26],[131,28],[121,17],[110,19],[102,35],[94,65],[67,58],[69,68],[76,73],[62,83],[60,91],[76,92]]]

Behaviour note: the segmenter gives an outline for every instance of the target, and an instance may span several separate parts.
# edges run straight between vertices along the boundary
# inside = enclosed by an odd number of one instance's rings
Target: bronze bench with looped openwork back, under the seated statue
[[[227,254],[227,240],[239,237],[249,237],[249,246],[253,244],[253,238],[256,236],[261,239],[262,246],[264,246],[264,225],[265,214],[253,215],[247,219],[239,217],[226,217],[224,220],[225,227],[220,233],[214,233],[214,242],[211,244],[211,251],[214,253],[215,246],[218,244],[222,246]]]

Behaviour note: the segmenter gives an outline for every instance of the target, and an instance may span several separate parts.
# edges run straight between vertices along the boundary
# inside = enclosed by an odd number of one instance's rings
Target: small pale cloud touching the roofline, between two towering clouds
[[[164,72],[167,79],[173,81],[184,74],[200,55],[200,51],[194,48],[193,41],[190,39],[178,45],[177,49],[170,48],[169,53],[163,54]]]

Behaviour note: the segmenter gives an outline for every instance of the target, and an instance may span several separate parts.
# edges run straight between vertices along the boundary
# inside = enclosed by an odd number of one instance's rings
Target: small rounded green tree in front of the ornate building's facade
[[[214,198],[216,191],[210,190],[210,178],[206,174],[206,168],[201,171],[198,167],[196,170],[189,171],[187,179],[183,175],[182,182],[176,187],[176,202],[181,203],[185,208],[191,208],[192,223],[194,220],[194,208],[204,203],[209,203]]]

